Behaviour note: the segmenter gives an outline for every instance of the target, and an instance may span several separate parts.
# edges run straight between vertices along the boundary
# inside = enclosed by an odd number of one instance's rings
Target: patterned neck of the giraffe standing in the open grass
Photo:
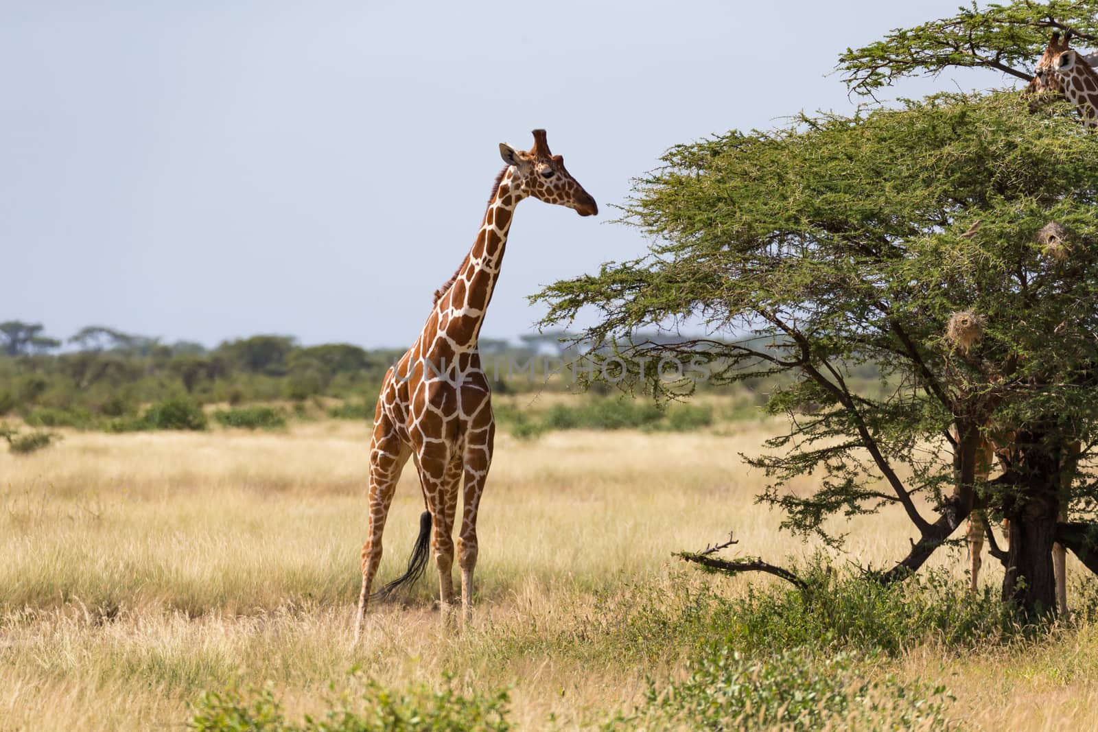
[[[445,340],[444,350],[455,353],[477,350],[481,325],[500,278],[511,217],[524,198],[513,183],[514,172],[513,167],[504,171],[484,213],[477,240],[458,269],[453,283],[435,303],[436,341]]]

